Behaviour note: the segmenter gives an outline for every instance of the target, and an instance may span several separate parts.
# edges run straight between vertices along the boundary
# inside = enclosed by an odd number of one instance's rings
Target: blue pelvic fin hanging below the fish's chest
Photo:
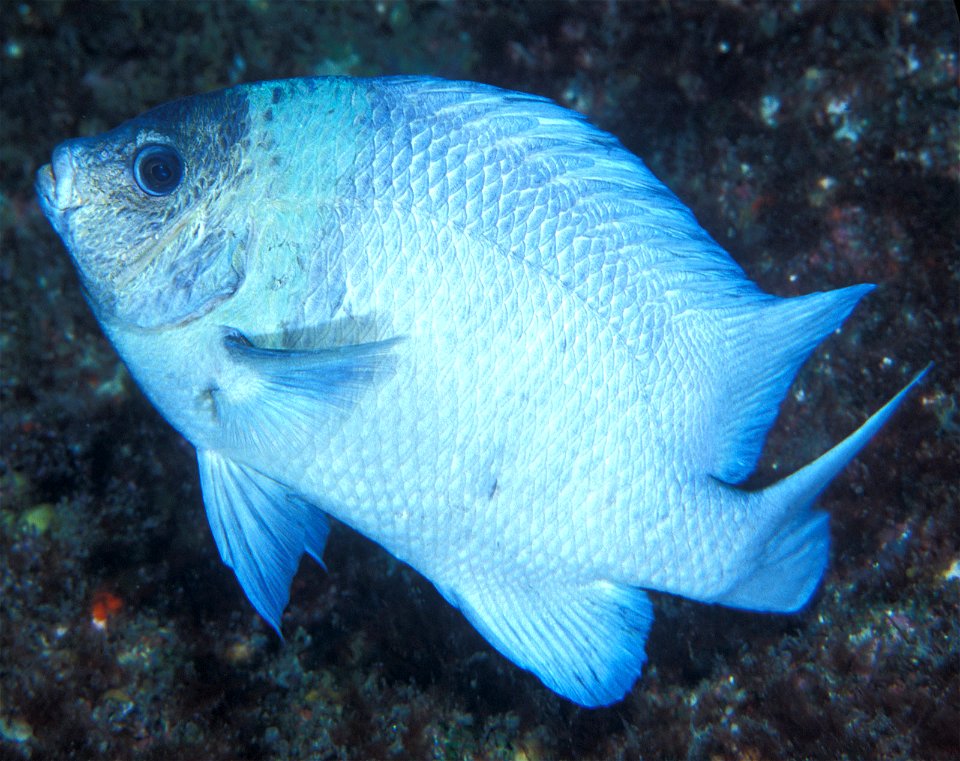
[[[323,555],[329,525],[283,484],[211,450],[198,450],[213,538],[257,612],[280,633],[290,582],[304,551]]]

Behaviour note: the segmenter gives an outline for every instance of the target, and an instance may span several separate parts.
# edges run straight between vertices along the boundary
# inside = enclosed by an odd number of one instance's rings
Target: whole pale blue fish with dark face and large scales
[[[873,286],[765,293],[615,137],[484,84],[187,97],[63,142],[36,191],[271,627],[336,520],[586,707],[640,677],[649,591],[803,608],[816,498],[927,372],[744,488]]]

